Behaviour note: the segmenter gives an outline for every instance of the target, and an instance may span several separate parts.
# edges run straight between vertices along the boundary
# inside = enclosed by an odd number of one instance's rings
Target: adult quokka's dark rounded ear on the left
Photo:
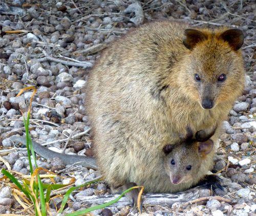
[[[207,35],[196,29],[185,29],[183,44],[187,49],[193,49],[199,42],[207,39]]]

